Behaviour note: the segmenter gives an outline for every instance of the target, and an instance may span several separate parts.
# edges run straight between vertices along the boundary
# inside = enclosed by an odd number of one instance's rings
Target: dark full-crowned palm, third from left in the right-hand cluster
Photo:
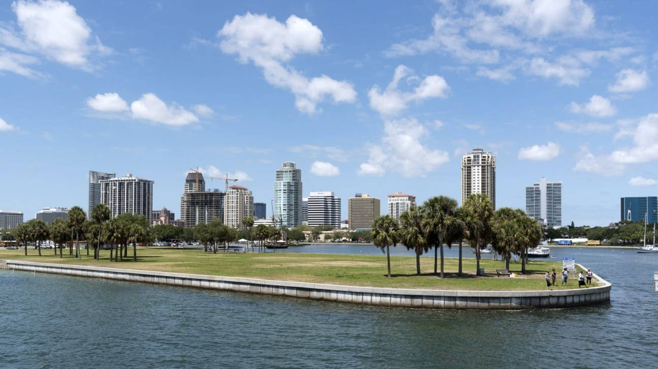
[[[428,236],[428,244],[434,245],[434,274],[436,274],[437,250],[441,249],[441,278],[443,278],[443,240],[457,210],[457,200],[447,196],[434,196],[422,204],[422,228]]]

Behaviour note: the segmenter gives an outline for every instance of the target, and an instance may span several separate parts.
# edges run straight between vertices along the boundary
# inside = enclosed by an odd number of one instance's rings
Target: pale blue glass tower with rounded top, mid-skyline
[[[285,162],[276,170],[274,181],[274,221],[294,228],[301,225],[301,170],[295,163]]]

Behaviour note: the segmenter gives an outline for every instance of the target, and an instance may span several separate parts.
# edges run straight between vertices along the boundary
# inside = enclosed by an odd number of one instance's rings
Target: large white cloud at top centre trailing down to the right
[[[217,37],[220,49],[237,54],[241,63],[253,62],[263,68],[266,81],[276,87],[290,89],[300,112],[313,114],[318,103],[330,98],[334,103],[354,102],[357,97],[351,83],[328,76],[307,79],[288,62],[300,53],[322,51],[322,31],[309,20],[291,15],[286,23],[265,14],[236,15],[226,22]]]

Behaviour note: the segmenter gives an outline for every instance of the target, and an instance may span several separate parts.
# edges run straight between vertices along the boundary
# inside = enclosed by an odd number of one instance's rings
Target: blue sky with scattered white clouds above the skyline
[[[186,171],[228,173],[271,213],[304,196],[460,199],[496,156],[496,204],[563,181],[563,224],[657,195],[653,1],[0,2],[0,209],[88,206],[88,171],[151,179],[178,217]],[[207,187],[223,188],[219,180]]]

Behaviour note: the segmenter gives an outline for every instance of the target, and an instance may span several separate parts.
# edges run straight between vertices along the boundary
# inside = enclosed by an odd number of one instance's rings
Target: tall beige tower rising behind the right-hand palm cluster
[[[470,194],[486,194],[495,209],[495,156],[474,148],[461,158],[461,204]]]

